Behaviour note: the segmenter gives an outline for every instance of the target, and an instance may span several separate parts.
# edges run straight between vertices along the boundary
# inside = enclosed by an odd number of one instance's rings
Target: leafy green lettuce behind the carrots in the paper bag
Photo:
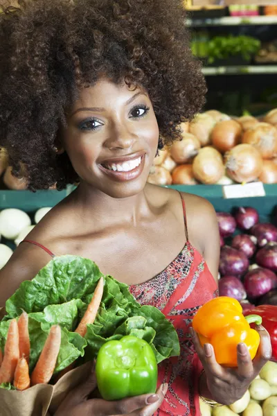
[[[105,286],[95,322],[87,326],[83,338],[75,329],[91,301],[100,277]],[[179,355],[179,339],[172,323],[154,306],[141,306],[126,284],[104,276],[89,259],[55,257],[31,281],[24,281],[6,302],[6,316],[0,322],[3,351],[12,318],[28,313],[30,370],[42,352],[53,324],[62,328],[62,345],[55,372],[96,358],[100,347],[125,335],[143,338],[152,347],[157,362]],[[1,387],[1,386],[0,386]],[[4,387],[4,386],[3,386]],[[10,388],[8,385],[6,388]]]

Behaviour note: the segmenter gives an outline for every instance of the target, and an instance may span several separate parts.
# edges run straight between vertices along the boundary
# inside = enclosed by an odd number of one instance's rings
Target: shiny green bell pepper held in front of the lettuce
[[[96,378],[105,400],[154,393],[158,365],[152,347],[141,338],[123,336],[100,348],[96,361]]]

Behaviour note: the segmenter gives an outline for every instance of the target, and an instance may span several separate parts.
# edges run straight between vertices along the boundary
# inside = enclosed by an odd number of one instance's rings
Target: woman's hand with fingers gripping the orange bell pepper
[[[200,344],[197,333],[191,331],[196,352],[206,373],[206,388],[211,398],[220,404],[232,404],[240,399],[249,388],[249,384],[258,376],[262,367],[271,358],[269,333],[262,325],[256,327],[260,334],[260,346],[256,357],[251,361],[249,351],[244,343],[238,344],[238,367],[226,368],[217,363],[211,344]],[[206,392],[200,391],[206,397]]]

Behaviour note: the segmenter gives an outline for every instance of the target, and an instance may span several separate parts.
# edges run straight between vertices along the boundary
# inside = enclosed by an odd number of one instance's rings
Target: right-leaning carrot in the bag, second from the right
[[[59,325],[53,325],[42,349],[42,354],[40,354],[33,374],[30,377],[32,385],[50,381],[60,351],[61,339],[62,331]]]

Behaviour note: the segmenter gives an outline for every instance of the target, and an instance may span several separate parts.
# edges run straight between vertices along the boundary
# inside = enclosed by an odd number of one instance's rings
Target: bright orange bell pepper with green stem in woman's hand
[[[202,347],[213,345],[217,363],[225,367],[236,367],[237,345],[244,343],[251,360],[256,356],[260,336],[250,323],[262,323],[259,315],[244,317],[242,306],[232,297],[221,296],[210,300],[197,311],[193,318],[193,329],[199,336]]]

